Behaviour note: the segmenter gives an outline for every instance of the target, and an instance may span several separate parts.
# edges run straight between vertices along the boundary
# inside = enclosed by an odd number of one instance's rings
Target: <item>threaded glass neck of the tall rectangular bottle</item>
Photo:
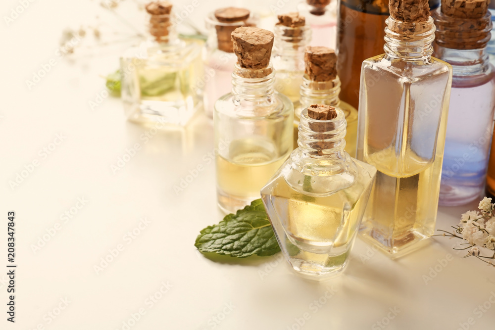
[[[425,22],[401,22],[390,16],[385,21],[385,53],[390,59],[410,62],[431,62],[435,24],[429,17]]]

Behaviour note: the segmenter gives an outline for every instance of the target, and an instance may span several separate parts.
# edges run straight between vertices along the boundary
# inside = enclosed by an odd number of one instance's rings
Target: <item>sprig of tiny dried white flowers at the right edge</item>
[[[461,245],[467,245],[466,247],[454,248],[454,250],[467,250],[468,254],[463,258],[473,256],[495,267],[495,204],[492,204],[492,198],[485,197],[478,208],[480,211],[468,211],[462,214],[459,225],[452,226],[454,233],[439,230],[443,234],[434,236],[465,240],[466,243]],[[482,255],[486,249],[490,250],[490,255]]]

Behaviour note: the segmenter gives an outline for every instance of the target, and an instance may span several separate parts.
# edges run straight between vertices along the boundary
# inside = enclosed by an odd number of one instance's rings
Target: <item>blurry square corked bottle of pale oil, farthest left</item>
[[[122,101],[131,121],[185,125],[202,105],[201,47],[180,40],[172,4],[148,3],[151,37],[120,58]]]

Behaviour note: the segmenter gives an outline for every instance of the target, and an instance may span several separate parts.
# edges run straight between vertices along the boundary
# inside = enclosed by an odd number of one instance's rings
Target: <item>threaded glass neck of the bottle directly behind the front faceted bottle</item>
[[[303,108],[317,103],[339,106],[340,91],[341,82],[339,76],[329,81],[313,81],[307,75],[304,75],[300,88],[301,97],[299,102]]]

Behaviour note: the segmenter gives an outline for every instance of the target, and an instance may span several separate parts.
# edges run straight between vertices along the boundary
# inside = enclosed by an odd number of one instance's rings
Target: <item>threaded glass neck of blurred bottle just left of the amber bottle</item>
[[[275,35],[273,55],[280,56],[284,60],[302,61],[304,49],[311,40],[309,25],[291,28],[277,24],[273,32]]]

